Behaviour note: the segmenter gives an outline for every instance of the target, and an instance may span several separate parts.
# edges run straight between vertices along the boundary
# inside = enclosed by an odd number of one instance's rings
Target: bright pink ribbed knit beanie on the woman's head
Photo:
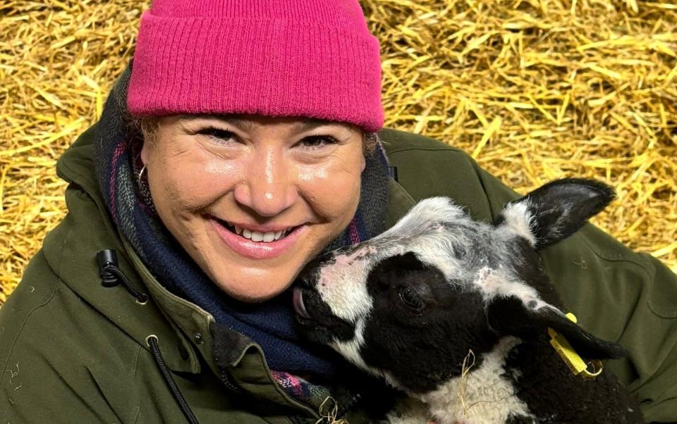
[[[379,42],[357,0],[154,0],[133,116],[250,113],[383,125]]]

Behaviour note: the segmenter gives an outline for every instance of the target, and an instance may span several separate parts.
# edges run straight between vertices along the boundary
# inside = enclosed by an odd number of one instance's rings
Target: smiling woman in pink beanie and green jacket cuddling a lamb
[[[295,275],[424,197],[487,220],[514,197],[463,152],[382,130],[379,93],[357,1],[154,1],[59,161],[68,216],[0,311],[0,418],[377,420],[385,389],[296,334]],[[647,419],[676,419],[675,275],[590,226],[543,261],[630,349],[608,368]]]

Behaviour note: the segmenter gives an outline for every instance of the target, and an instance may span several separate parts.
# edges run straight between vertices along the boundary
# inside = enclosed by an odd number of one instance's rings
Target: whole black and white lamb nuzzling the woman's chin
[[[305,268],[300,328],[417,404],[391,422],[640,423],[613,375],[574,375],[551,345],[549,329],[588,361],[624,354],[565,316],[538,256],[613,198],[599,182],[557,180],[493,225],[446,198],[420,201],[382,235]]]

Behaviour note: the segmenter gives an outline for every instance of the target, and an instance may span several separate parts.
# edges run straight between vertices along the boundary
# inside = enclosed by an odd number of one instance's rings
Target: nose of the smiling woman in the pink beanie
[[[276,149],[267,149],[250,161],[242,182],[235,187],[238,203],[260,216],[276,216],[298,198],[293,166]]]

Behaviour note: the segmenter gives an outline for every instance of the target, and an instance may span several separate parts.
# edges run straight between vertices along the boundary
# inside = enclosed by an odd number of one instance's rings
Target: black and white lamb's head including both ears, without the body
[[[558,180],[506,205],[493,224],[446,198],[421,201],[378,237],[310,263],[294,291],[300,328],[407,392],[429,392],[507,335],[559,330],[587,358],[617,357],[571,323],[538,251],[613,199],[590,180]]]

